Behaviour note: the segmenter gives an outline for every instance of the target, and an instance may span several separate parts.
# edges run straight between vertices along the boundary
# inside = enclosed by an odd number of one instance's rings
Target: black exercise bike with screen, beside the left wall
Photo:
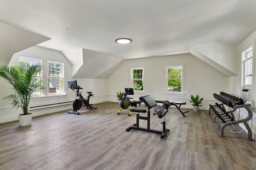
[[[73,102],[73,111],[68,111],[68,113],[80,114],[78,110],[82,105],[86,106],[87,109],[98,109],[98,107],[93,107],[93,104],[90,104],[90,96],[93,96],[92,92],[87,92],[88,96],[86,99],[82,96],[82,92],[79,92],[81,88],[77,85],[76,80],[68,80],[68,88],[71,88],[73,91],[76,91],[76,100]]]

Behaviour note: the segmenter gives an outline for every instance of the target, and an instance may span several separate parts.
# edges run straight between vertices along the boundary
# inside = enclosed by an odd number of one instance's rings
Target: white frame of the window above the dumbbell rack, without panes
[[[250,56],[248,56],[250,55]],[[242,88],[244,89],[252,89],[253,88],[253,82],[254,82],[254,53],[253,53],[253,47],[249,47],[248,49],[246,49],[245,51],[243,51],[241,53],[241,79],[242,79]],[[248,72],[246,71],[246,68],[248,68],[248,66],[246,66],[246,62],[250,61],[250,73],[252,73],[252,80],[251,80],[251,84],[246,84],[246,76],[245,74],[248,74]]]

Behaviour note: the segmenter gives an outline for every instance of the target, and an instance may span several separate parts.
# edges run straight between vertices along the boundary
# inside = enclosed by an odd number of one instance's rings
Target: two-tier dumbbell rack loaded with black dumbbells
[[[252,138],[252,130],[250,126],[248,125],[247,121],[252,119],[252,110],[250,109],[250,104],[244,103],[244,100],[241,98],[237,98],[236,96],[232,96],[230,94],[220,92],[220,94],[213,94],[214,98],[222,102],[222,104],[216,103],[214,106],[210,105],[210,110],[214,111],[214,119],[213,122],[215,122],[216,117],[219,117],[222,122],[224,123],[220,128],[220,136],[224,136],[224,128],[229,125],[237,125],[239,123],[244,123],[245,127],[248,131],[248,140],[249,141],[255,141]],[[228,107],[231,107],[231,111],[226,111],[224,108],[224,104],[226,104]],[[244,107],[248,111],[248,116],[244,119],[236,120],[234,117],[233,112],[236,111],[236,109]]]

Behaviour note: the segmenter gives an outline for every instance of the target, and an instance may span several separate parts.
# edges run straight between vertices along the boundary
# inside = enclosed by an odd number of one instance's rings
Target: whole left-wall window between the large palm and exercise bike
[[[63,93],[63,63],[48,61],[48,94]]]

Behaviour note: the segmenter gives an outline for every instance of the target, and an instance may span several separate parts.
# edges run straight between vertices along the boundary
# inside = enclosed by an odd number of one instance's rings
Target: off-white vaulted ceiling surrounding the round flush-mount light
[[[237,46],[256,30],[256,0],[1,0],[0,22],[47,37],[38,46],[70,60],[86,49],[120,64],[202,43]],[[117,44],[122,37],[132,43]]]

